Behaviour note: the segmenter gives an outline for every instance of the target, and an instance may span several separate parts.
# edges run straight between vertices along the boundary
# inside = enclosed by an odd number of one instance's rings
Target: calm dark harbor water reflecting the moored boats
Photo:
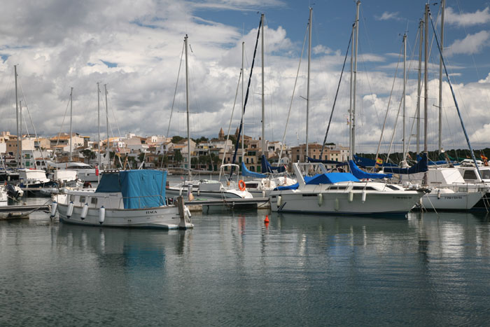
[[[0,221],[0,326],[487,326],[490,219],[211,211],[194,230]]]

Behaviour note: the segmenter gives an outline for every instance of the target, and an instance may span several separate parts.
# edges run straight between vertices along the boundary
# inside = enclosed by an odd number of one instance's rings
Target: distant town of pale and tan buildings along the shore
[[[216,172],[221,163],[232,163],[235,153],[235,134],[225,135],[223,129],[216,138],[200,137],[191,139],[181,136],[165,137],[153,135],[141,137],[129,133],[125,137],[110,137],[99,143],[78,133],[59,133],[53,137],[34,137],[23,134],[20,139],[10,132],[0,132],[0,154],[2,168],[25,167],[48,169],[48,162],[85,162],[98,165],[99,153],[101,169],[163,168],[178,172],[188,169],[188,148],[190,148],[190,169]],[[241,142],[235,163],[243,160],[251,172],[261,172],[262,140],[244,135],[242,155]],[[108,146],[109,142],[109,146]],[[20,148],[20,150],[19,150]],[[328,144],[321,154],[322,145],[308,145],[308,156],[314,159],[345,161],[349,158],[349,148]],[[281,158],[279,155],[282,151]],[[269,162],[290,166],[291,162],[304,161],[307,146],[288,147],[280,141],[265,141],[265,151]],[[22,155],[19,159],[19,153]],[[109,158],[107,157],[109,153]],[[20,162],[20,165],[18,165]]]

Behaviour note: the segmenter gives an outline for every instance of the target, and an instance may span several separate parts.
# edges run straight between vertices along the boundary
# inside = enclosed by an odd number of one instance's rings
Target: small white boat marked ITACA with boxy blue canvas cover
[[[53,195],[51,216],[79,225],[131,228],[193,228],[190,212],[165,197],[166,172],[127,170],[107,172],[97,189],[66,190]]]

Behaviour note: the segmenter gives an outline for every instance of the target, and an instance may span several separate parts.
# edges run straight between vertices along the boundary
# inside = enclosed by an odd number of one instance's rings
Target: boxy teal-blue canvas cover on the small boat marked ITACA
[[[138,169],[102,174],[95,192],[123,193],[125,209],[153,208],[165,205],[167,172]]]

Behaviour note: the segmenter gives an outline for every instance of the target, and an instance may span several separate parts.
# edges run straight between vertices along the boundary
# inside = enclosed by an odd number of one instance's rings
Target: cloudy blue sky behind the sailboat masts
[[[392,138],[391,152],[401,151],[402,111],[397,113],[402,99],[405,33],[405,140],[410,150],[415,150],[415,137],[409,135],[416,134],[418,27],[425,4],[419,0],[365,0],[360,4],[357,152],[376,151],[386,115],[381,152],[388,151]],[[68,132],[73,88],[73,131],[97,139],[100,120],[101,137],[105,138],[105,85],[111,137],[128,132],[167,135],[167,130],[168,136],[185,137],[183,39],[187,34],[190,137],[217,137],[220,128],[226,133],[230,119],[233,134],[241,117],[241,44],[244,42],[246,92],[260,14],[264,13],[265,138],[282,141],[285,135],[288,146],[304,144],[307,134],[308,44],[304,45],[304,40],[309,7],[313,8],[310,142],[321,143],[325,136],[356,14],[355,1],[346,0],[6,0],[2,6],[0,131],[15,134],[13,71],[18,65],[23,132],[34,134],[35,129],[48,137]],[[448,73],[472,146],[485,148],[490,146],[490,2],[447,0],[446,7],[444,58]],[[440,4],[430,1],[430,11],[439,29]],[[440,31],[437,33],[440,38]],[[428,43],[428,146],[435,150],[439,55],[431,26]],[[259,42],[244,117],[245,134],[255,138],[262,131],[260,53]],[[349,80],[350,57],[328,142],[349,144]],[[442,146],[467,148],[445,77],[442,90]],[[421,130],[423,142],[423,121]]]

